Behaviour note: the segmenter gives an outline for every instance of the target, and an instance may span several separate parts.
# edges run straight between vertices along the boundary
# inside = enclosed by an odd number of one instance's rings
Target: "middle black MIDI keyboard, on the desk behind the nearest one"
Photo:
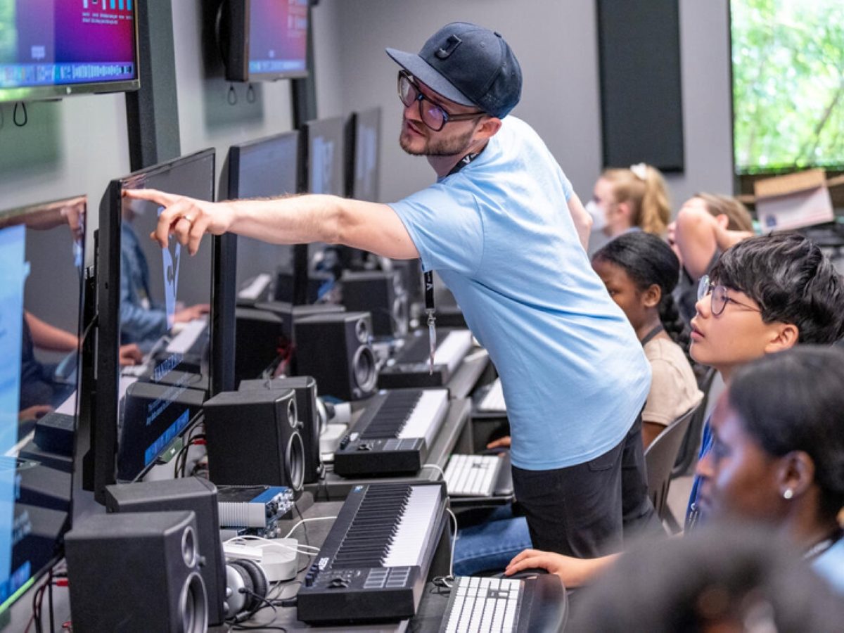
[[[447,389],[376,393],[334,452],[334,473],[350,477],[418,472],[447,410]]]

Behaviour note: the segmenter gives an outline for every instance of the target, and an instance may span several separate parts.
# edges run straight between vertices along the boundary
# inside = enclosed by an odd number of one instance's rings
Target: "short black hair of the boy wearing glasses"
[[[762,321],[796,325],[799,343],[844,336],[844,285],[820,246],[799,233],[740,241],[722,253],[709,276],[759,304]]]

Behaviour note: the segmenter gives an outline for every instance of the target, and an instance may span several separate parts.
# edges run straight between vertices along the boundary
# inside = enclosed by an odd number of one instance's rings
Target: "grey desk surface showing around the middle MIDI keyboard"
[[[434,445],[428,453],[427,463],[436,463],[440,468],[446,468],[446,462],[452,452],[465,452],[468,446],[464,446],[463,431],[467,428],[471,402],[466,399],[457,399],[449,402],[446,419],[443,420],[440,432],[436,436]],[[315,484],[305,484],[306,492],[310,492],[316,500],[336,501],[344,500],[352,487],[360,484],[372,484],[382,482],[414,482],[414,481],[437,481],[441,479],[441,473],[436,468],[422,468],[414,475],[399,475],[398,477],[385,478],[356,478],[347,479],[334,474],[331,464],[326,464],[326,473],[322,481]]]

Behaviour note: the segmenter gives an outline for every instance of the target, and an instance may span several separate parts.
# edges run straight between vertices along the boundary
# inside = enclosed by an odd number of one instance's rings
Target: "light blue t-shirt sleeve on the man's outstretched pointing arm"
[[[390,207],[408,230],[425,271],[477,271],[484,255],[484,223],[471,194],[437,183]]]

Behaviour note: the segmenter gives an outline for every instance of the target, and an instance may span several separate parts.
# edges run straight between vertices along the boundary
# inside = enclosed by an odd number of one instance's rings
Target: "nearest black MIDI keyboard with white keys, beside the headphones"
[[[413,617],[446,527],[446,499],[442,482],[355,486],[305,576],[297,617],[311,624]]]

